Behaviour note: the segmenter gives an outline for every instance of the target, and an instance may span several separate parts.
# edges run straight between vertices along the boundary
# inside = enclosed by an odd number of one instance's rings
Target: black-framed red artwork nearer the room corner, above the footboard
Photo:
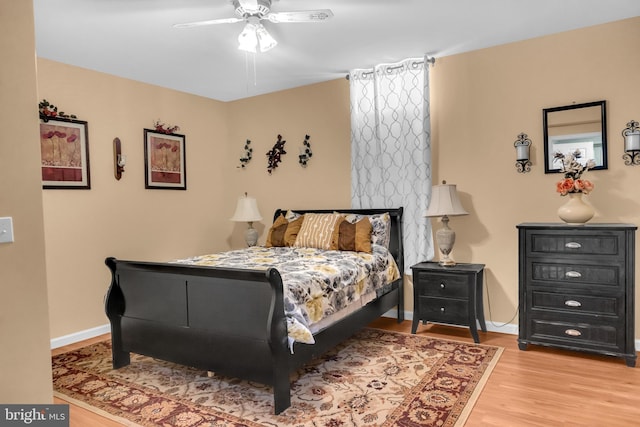
[[[147,189],[186,190],[185,137],[144,130],[144,185]]]

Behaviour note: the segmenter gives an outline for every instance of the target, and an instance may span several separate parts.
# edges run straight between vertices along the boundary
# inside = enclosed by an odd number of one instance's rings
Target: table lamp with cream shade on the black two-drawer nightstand
[[[431,202],[427,208],[427,217],[442,217],[442,228],[436,232],[438,248],[442,253],[439,264],[446,267],[456,265],[449,257],[453,244],[456,241],[456,233],[449,228],[449,217],[454,215],[468,215],[458,198],[456,186],[442,181],[441,185],[434,185],[431,189]]]

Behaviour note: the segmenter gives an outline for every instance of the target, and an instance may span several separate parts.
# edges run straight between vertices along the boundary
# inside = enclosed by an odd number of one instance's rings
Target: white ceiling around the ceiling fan
[[[237,49],[243,23],[172,27],[234,17],[230,0],[33,3],[39,57],[221,101],[640,16],[638,0],[274,0],[273,12],[331,9],[334,16],[263,21],[279,44],[254,58]]]

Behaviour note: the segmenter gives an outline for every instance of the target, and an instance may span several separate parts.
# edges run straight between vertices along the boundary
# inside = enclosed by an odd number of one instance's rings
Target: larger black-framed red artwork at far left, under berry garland
[[[40,121],[42,188],[91,188],[87,122],[67,118]]]

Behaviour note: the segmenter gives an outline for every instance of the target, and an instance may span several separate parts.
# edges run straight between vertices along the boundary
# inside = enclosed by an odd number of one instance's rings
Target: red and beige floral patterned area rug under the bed
[[[145,356],[111,368],[103,341],[54,356],[56,396],[125,425],[438,426],[464,424],[500,347],[365,329],[291,377],[291,407],[268,386]]]

